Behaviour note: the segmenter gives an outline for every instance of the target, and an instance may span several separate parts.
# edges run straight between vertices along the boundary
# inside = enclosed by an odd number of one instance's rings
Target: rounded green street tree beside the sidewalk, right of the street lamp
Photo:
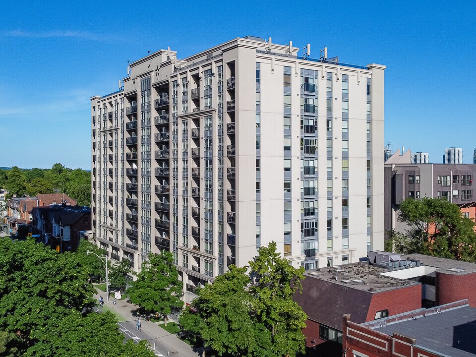
[[[182,282],[172,253],[150,254],[127,293],[132,303],[139,305],[146,314],[161,314],[167,326],[167,314],[183,306],[180,300]]]

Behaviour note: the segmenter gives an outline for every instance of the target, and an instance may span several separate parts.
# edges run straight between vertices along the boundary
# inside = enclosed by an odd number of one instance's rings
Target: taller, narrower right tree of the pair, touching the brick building
[[[301,292],[300,281],[304,268],[294,268],[276,251],[276,243],[261,247],[249,262],[253,284],[250,292],[258,321],[271,331],[273,353],[277,356],[295,356],[304,352],[306,314],[293,300]]]

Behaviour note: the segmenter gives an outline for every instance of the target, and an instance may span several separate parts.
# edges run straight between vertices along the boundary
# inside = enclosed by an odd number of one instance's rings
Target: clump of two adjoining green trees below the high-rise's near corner
[[[230,266],[180,316],[185,334],[203,341],[217,356],[295,356],[304,351],[306,315],[293,300],[303,268],[296,269],[276,251],[261,247],[249,268]],[[249,272],[248,272],[249,270]]]

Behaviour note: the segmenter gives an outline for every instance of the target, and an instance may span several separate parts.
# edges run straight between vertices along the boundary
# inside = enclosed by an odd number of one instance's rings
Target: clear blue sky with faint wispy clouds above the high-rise
[[[438,163],[457,146],[473,162],[475,1],[51,0],[2,4],[0,166],[89,169],[89,98],[117,90],[127,60],[167,46],[185,58],[246,35],[387,65],[390,148]]]

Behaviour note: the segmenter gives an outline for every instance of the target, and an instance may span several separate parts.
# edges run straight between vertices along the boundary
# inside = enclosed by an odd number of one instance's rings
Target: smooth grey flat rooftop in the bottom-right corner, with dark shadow
[[[441,356],[476,356],[476,308],[468,305],[375,328],[416,338],[416,345]]]

